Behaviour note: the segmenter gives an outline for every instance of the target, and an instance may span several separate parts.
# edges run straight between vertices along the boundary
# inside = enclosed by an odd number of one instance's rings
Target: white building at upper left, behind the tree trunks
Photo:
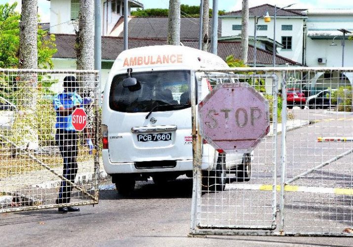
[[[113,30],[124,13],[124,0],[101,0],[102,35],[107,36]],[[143,4],[128,0],[128,15],[132,7]],[[50,33],[75,34],[78,27],[79,0],[50,0]]]

